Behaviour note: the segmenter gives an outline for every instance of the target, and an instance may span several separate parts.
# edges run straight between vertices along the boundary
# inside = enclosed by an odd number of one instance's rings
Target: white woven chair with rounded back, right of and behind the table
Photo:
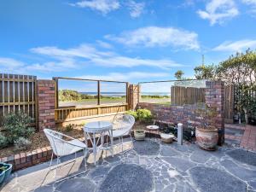
[[[125,136],[130,136],[132,148],[133,142],[131,137],[131,129],[135,124],[135,119],[130,114],[117,114],[113,118],[113,138],[119,138],[119,144],[122,145],[122,153],[124,152],[124,140]],[[108,138],[107,138],[108,143]]]

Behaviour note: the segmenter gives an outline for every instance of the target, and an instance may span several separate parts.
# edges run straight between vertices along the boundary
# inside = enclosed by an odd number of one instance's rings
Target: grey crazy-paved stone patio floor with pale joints
[[[201,150],[195,144],[165,144],[159,139],[134,142],[135,148],[112,157],[103,151],[98,165],[89,156],[87,171],[55,183],[49,162],[15,172],[3,192],[256,192],[256,153],[239,148]],[[131,148],[126,142],[125,148]],[[57,178],[83,172],[83,158],[62,161]],[[67,164],[67,165],[65,165]],[[71,171],[70,171],[71,170]],[[43,182],[44,181],[44,182]]]

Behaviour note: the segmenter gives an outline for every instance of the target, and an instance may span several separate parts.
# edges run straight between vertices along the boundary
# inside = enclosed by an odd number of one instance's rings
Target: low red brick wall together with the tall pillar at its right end
[[[218,144],[221,145],[224,143],[224,82],[207,81],[206,86],[206,104],[218,110],[218,116],[213,119],[213,122],[218,128]],[[202,123],[201,118],[195,113],[198,107],[192,105],[166,106],[141,102],[137,107],[148,108],[154,114],[154,118],[163,123],[183,123],[184,128]]]

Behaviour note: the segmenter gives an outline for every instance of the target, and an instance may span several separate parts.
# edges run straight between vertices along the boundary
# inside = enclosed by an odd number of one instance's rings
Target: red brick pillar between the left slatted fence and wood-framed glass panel
[[[55,128],[55,81],[38,80],[38,128]]]

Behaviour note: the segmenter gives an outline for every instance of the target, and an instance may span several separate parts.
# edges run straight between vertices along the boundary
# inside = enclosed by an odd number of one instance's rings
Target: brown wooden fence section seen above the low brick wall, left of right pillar
[[[195,104],[196,102],[206,102],[205,88],[172,86],[171,103],[172,105]]]

